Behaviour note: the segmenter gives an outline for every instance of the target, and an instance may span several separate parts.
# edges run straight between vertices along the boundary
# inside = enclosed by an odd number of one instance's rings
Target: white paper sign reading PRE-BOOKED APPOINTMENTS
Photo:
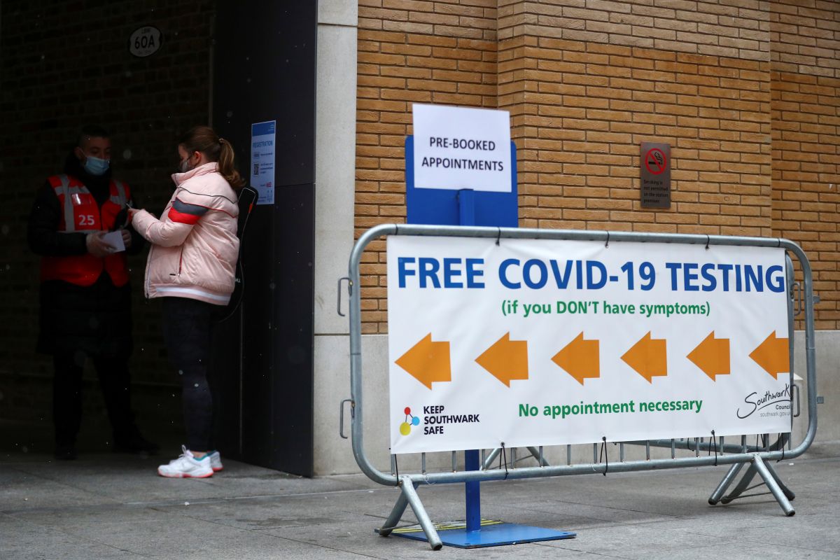
[[[414,186],[510,192],[510,121],[507,111],[415,103]]]

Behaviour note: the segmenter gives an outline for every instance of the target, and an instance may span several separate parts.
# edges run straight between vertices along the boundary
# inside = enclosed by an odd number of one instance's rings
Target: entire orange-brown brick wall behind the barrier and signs
[[[822,241],[816,248],[823,298],[819,326],[837,327],[831,315],[837,297],[829,291],[837,289],[831,280],[837,273],[837,248],[830,237],[836,228],[826,225],[833,217],[824,220],[813,214],[817,207],[800,206],[803,189],[791,189],[790,177],[780,181],[779,165],[790,164],[778,157],[780,134],[790,130],[785,133],[790,144],[783,145],[796,157],[801,149],[813,151],[801,156],[801,165],[819,166],[826,177],[837,172],[836,143],[823,142],[836,133],[837,125],[836,84],[827,81],[837,77],[837,3],[499,0],[482,5],[487,18],[494,17],[490,10],[496,8],[496,37],[485,35],[481,47],[485,60],[496,55],[495,75],[486,65],[480,77],[461,74],[459,81],[493,81],[496,98],[487,93],[444,101],[423,86],[435,77],[425,71],[428,65],[452,64],[449,53],[435,57],[430,52],[433,60],[377,55],[384,54],[386,42],[449,41],[467,57],[474,54],[475,44],[468,48],[455,39],[476,33],[475,25],[460,25],[459,30],[453,19],[445,31],[400,27],[404,34],[386,41],[369,39],[381,29],[396,29],[389,28],[395,23],[386,21],[385,9],[399,11],[402,23],[397,25],[408,25],[419,21],[421,13],[458,13],[475,3],[360,4],[359,231],[404,219],[402,134],[410,129],[405,124],[411,118],[408,100],[504,108],[511,112],[518,148],[522,226],[760,236],[784,230],[795,239],[797,233],[810,232],[806,238]],[[818,70],[809,73],[803,68],[807,64]],[[416,72],[421,80],[371,86],[370,78],[395,68],[404,76]],[[816,101],[795,101],[796,115],[806,117],[795,116],[793,109],[777,110],[783,96],[780,81],[793,87],[791,82],[798,83],[803,74],[808,76],[806,89],[822,87],[821,94],[811,92]],[[785,92],[787,97],[802,93]],[[402,104],[383,110],[380,104],[393,100]],[[395,122],[401,126],[385,132],[386,124]],[[790,136],[817,124],[819,131],[811,133],[822,146]],[[671,145],[668,210],[639,204],[643,141]],[[809,177],[802,178],[811,181]],[[808,196],[822,203],[819,212],[833,212],[833,199],[827,195]],[[790,221],[783,227],[780,201],[788,201],[789,209],[807,209],[811,223],[797,225],[798,218],[788,213]],[[827,231],[814,233],[813,228]],[[363,328],[386,332],[383,246],[372,249],[364,270],[368,289],[363,291]]]

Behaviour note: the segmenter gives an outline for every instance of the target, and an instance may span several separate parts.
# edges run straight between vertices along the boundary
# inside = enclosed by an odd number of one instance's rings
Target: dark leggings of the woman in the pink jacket
[[[183,388],[186,447],[213,450],[213,395],[207,383],[213,314],[219,306],[184,297],[163,298],[163,338]]]

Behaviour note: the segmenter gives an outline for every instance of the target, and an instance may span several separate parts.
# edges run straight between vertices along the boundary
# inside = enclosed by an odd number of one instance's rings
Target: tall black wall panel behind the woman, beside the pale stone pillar
[[[276,120],[275,203],[245,233],[239,312],[217,334],[223,453],[312,475],[317,3],[218,3],[213,126],[248,176],[250,125]],[[235,343],[234,343],[235,342]]]

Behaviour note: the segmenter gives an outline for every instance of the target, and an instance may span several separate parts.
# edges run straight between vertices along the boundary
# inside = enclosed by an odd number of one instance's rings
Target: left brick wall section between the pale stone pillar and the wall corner
[[[404,222],[412,102],[496,107],[496,2],[363,0],[356,122],[357,235]],[[385,243],[360,268],[363,332],[386,332]]]

